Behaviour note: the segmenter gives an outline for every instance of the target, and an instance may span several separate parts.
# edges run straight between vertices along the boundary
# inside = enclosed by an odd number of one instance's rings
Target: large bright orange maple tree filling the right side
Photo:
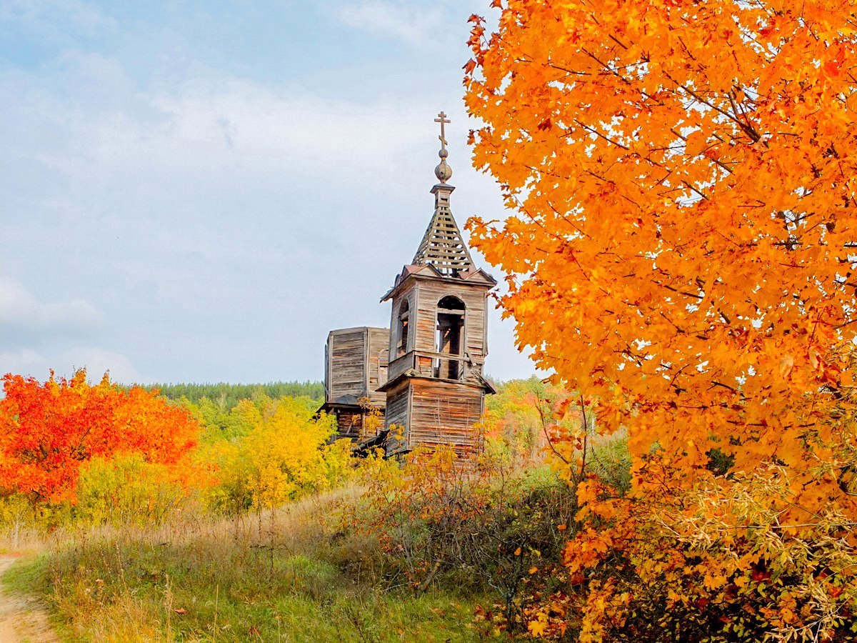
[[[652,526],[633,502],[674,506],[700,481],[727,487],[725,470],[776,467],[770,475],[787,481],[776,497],[747,484],[776,508],[781,532],[833,515],[847,531],[857,520],[857,3],[494,6],[496,33],[472,18],[465,101],[482,122],[475,164],[517,213],[471,219],[471,238],[509,274],[501,303],[520,346],[596,397],[601,430],[626,426],[633,457],[621,502],[581,485],[581,518],[602,528],[569,545],[572,571],[597,568]],[[645,556],[634,556],[642,578]],[[692,569],[682,556],[666,568]],[[632,600],[620,586],[590,583],[590,600],[613,604],[617,622]],[[606,635],[603,622],[587,627]]]

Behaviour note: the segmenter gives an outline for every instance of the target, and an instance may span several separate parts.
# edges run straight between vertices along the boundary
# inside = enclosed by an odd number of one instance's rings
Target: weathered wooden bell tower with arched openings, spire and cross
[[[496,280],[473,265],[470,250],[452,217],[455,188],[446,182],[446,114],[440,123],[438,183],[431,189],[434,214],[413,261],[381,298],[392,303],[387,383],[386,428],[401,428],[387,438],[387,455],[406,453],[417,444],[450,444],[466,456],[478,448],[474,425],[482,417],[488,355],[488,291]]]

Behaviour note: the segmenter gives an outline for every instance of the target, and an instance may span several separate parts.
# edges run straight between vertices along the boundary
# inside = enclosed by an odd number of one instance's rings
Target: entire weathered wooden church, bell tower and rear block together
[[[488,355],[488,291],[496,280],[473,264],[450,209],[441,111],[434,214],[414,255],[381,297],[391,303],[390,328],[344,328],[327,336],[325,404],[339,437],[358,448],[383,446],[387,456],[423,444],[479,448],[475,425],[484,411]],[[384,416],[383,424],[378,413]],[[375,419],[369,422],[369,417]],[[380,425],[379,425],[380,424]],[[377,426],[376,426],[377,425]]]

